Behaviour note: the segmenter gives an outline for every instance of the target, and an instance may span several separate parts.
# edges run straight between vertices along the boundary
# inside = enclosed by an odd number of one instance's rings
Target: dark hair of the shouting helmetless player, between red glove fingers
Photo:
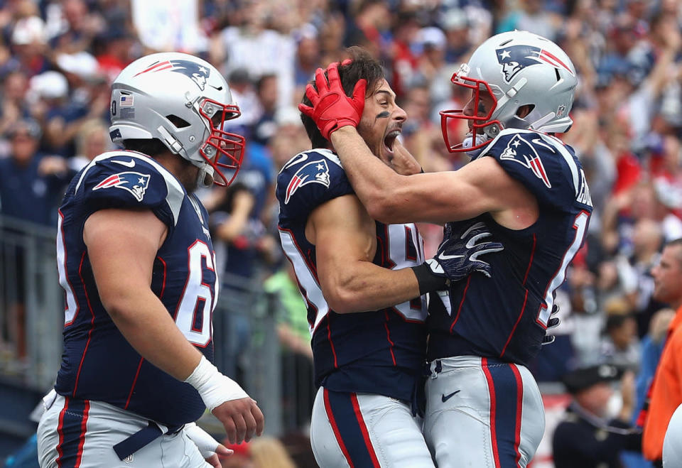
[[[339,77],[341,79],[341,85],[343,90],[346,92],[347,96],[352,96],[353,88],[358,80],[364,78],[367,80],[367,94],[372,94],[373,90],[379,85],[379,82],[384,79],[384,68],[381,66],[381,62],[367,52],[367,50],[361,47],[351,47],[346,50],[347,54],[350,56],[350,64],[339,65]],[[325,72],[325,76],[326,76]],[[315,89],[315,80],[310,82]],[[303,104],[311,106],[312,103],[308,96],[303,94]],[[305,114],[301,114],[301,121],[305,127],[305,132],[310,138],[310,143],[313,144],[313,148],[326,148],[329,142],[320,133],[318,126],[315,124],[313,119],[310,119]]]

